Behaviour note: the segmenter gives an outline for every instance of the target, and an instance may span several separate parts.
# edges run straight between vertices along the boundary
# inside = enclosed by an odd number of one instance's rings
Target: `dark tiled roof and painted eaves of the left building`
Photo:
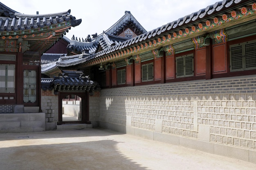
[[[77,20],[70,12],[29,15],[14,11],[0,2],[0,40],[26,43],[28,48],[23,51],[39,51],[42,54],[68,29],[81,23],[82,20]],[[14,47],[3,48],[3,51],[18,52]]]

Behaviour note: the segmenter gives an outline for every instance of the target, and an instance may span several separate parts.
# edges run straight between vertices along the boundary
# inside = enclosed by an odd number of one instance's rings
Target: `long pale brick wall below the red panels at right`
[[[99,120],[256,149],[256,78],[241,76],[101,90]],[[130,119],[131,118],[131,119]]]

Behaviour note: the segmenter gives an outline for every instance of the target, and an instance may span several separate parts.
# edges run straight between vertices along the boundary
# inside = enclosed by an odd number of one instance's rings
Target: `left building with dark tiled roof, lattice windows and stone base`
[[[0,3],[0,130],[17,127],[18,131],[33,131],[25,119],[28,115],[9,113],[40,112],[40,57],[80,23],[81,19],[72,16],[70,10],[29,15]],[[21,122],[8,123],[13,119],[26,121],[22,127]]]

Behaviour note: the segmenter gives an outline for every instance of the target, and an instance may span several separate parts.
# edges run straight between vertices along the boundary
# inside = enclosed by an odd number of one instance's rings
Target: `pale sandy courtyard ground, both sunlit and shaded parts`
[[[256,164],[110,130],[0,134],[0,170],[256,170]]]

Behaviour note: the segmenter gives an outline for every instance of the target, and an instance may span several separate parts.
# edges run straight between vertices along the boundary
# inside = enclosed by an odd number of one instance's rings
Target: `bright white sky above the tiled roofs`
[[[82,19],[72,27],[68,38],[86,38],[88,34],[101,34],[115,24],[125,11],[151,31],[183,18],[220,0],[0,0],[7,7],[25,14],[58,13],[71,9],[71,15]]]

